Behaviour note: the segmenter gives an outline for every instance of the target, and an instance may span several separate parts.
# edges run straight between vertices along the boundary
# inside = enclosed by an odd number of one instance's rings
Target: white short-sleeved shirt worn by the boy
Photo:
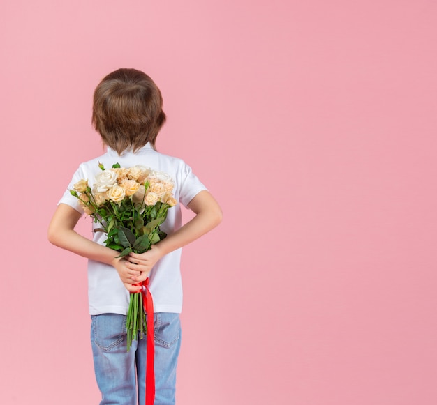
[[[125,152],[121,156],[108,148],[104,155],[82,163],[73,175],[59,204],[68,204],[80,213],[84,213],[78,199],[73,197],[68,190],[73,189],[73,184],[82,178],[87,179],[92,188],[94,176],[101,171],[98,167],[99,162],[108,169],[114,163],[119,163],[121,167],[143,165],[156,171],[164,171],[175,181],[173,189],[175,199],[184,206],[187,206],[198,192],[206,190],[205,185],[200,183],[183,160],[158,153],[147,144],[135,153]],[[167,219],[161,225],[161,230],[170,235],[181,227],[181,222],[181,208],[177,204],[168,209]],[[98,225],[93,224],[93,227],[98,227]],[[103,232],[94,233],[94,242],[104,245],[105,239],[106,235]],[[166,254],[151,270],[149,289],[154,299],[155,312],[180,313],[182,311],[181,252],[182,249],[178,249]],[[88,261],[88,297],[91,315],[127,314],[129,292],[121,282],[117,270],[112,266],[98,261]]]

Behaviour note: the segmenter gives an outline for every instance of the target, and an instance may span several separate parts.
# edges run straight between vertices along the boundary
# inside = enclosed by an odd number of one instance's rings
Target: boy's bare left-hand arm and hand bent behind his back
[[[59,204],[48,229],[50,243],[88,259],[114,266],[128,291],[140,291],[140,287],[132,285],[136,283],[133,276],[141,275],[147,268],[132,264],[126,258],[116,259],[118,252],[77,234],[74,228],[80,217],[81,214],[71,206]]]

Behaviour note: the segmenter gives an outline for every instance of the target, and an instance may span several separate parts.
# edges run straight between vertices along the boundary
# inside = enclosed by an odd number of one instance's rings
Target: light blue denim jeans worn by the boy
[[[175,404],[177,357],[181,344],[179,314],[154,314],[155,401]],[[102,393],[100,405],[144,405],[147,338],[132,342],[126,350],[126,316],[91,316],[94,371]]]

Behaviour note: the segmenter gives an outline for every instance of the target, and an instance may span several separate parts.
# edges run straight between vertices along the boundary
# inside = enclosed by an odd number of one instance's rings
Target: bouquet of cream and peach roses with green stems
[[[105,232],[105,245],[124,257],[130,252],[143,253],[167,236],[160,225],[167,217],[168,208],[175,206],[173,181],[166,173],[149,167],[120,167],[99,172],[92,182],[82,179],[70,190],[80,201],[85,213],[98,224],[95,232]],[[138,333],[147,333],[147,323],[141,293],[131,293],[126,321],[127,349]]]

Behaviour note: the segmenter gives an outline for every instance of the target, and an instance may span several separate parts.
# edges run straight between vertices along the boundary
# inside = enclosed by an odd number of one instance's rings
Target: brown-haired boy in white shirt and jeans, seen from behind
[[[92,122],[108,151],[82,163],[68,189],[82,178],[91,182],[100,171],[99,162],[105,167],[117,162],[121,167],[143,165],[169,174],[175,182],[175,199],[190,208],[195,217],[181,227],[179,205],[170,208],[161,226],[167,238],[145,253],[117,259],[118,252],[105,247],[102,232],[94,233],[92,241],[75,232],[84,211],[66,190],[48,231],[51,243],[89,259],[91,346],[101,405],[136,405],[137,400],[145,404],[147,339],[133,341],[126,351],[126,313],[129,293],[140,291],[135,284],[147,277],[154,299],[154,404],[175,404],[182,310],[181,247],[221,222],[221,208],[190,167],[156,151],[156,137],[165,122],[162,105],[161,92],[145,73],[119,69],[106,76],[94,92]]]

